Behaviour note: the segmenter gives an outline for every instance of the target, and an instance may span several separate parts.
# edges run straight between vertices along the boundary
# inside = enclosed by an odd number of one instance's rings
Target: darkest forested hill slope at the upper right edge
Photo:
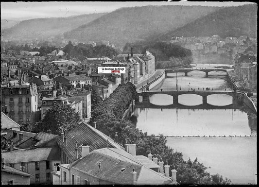
[[[257,5],[249,4],[235,7],[225,7],[211,14],[200,17],[185,26],[149,38],[153,41],[171,40],[172,36],[212,36],[221,37],[248,35],[257,36]]]

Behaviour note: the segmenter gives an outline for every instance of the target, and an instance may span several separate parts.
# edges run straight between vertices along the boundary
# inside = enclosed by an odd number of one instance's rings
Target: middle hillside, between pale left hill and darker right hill
[[[172,31],[218,10],[208,6],[142,6],[120,8],[64,34],[81,42],[108,40],[123,46],[148,35]]]

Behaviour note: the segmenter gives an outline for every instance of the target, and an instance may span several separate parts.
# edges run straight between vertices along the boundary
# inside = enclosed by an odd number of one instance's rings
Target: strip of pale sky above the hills
[[[238,6],[252,2],[233,1],[45,1],[1,2],[1,19],[25,20],[44,17],[69,17],[82,14],[108,13],[121,7],[146,5]]]

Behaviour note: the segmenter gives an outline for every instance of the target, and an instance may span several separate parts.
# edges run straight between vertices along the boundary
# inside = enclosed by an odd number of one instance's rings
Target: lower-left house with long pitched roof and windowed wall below
[[[60,164],[56,147],[21,149],[2,153],[4,163],[11,168],[29,173],[31,184],[51,184],[51,171]]]

